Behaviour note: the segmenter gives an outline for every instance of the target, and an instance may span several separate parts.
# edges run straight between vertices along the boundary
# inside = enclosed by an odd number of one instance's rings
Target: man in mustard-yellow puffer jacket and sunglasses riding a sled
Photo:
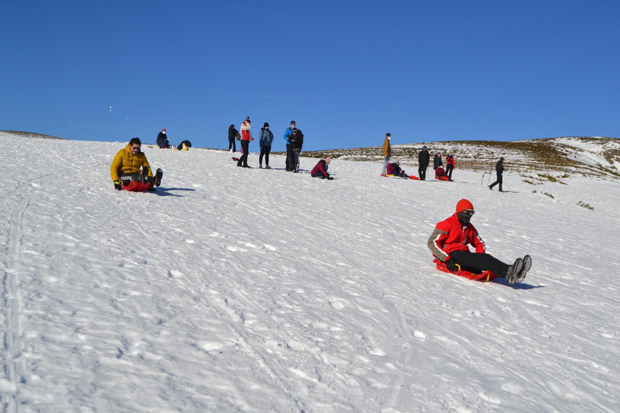
[[[153,185],[159,187],[161,184],[161,177],[163,172],[161,169],[157,169],[155,176],[153,177],[153,171],[149,161],[146,160],[146,155],[140,151],[142,142],[139,138],[132,138],[129,144],[125,148],[118,151],[110,166],[110,175],[112,175],[112,182],[114,182],[114,189],[121,190],[121,182],[123,185],[129,185],[132,180],[138,182],[151,182],[151,187],[148,190],[154,191]],[[140,167],[142,171],[140,171]]]

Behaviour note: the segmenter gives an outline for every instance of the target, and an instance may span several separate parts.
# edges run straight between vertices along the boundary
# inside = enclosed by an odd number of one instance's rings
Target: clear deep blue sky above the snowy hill
[[[3,1],[0,129],[304,149],[620,136],[618,1]],[[110,107],[112,109],[110,110]],[[250,150],[256,142],[250,144]]]

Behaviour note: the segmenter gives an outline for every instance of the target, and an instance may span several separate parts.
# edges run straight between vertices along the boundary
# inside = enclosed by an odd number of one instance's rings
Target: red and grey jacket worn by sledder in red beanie
[[[448,260],[452,251],[469,251],[467,244],[476,247],[476,252],[486,251],[476,228],[472,224],[461,225],[456,213],[437,224],[427,243],[428,249],[442,261]]]

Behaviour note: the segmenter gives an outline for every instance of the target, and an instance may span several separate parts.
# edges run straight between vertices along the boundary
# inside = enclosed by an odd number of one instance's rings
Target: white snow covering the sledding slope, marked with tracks
[[[326,181],[316,159],[143,145],[162,186],[128,193],[109,174],[126,143],[0,138],[4,411],[620,405],[616,180],[508,171],[499,193],[334,159]],[[532,255],[524,283],[433,268],[428,236],[464,197],[490,253]]]

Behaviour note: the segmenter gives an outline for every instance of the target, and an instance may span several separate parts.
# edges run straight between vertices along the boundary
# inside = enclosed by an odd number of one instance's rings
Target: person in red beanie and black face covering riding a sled
[[[457,270],[456,264],[459,264],[479,272],[489,270],[511,284],[522,282],[532,265],[531,257],[525,255],[523,259],[517,258],[513,265],[508,265],[487,254],[484,241],[469,223],[473,215],[474,205],[471,202],[462,199],[456,203],[454,215],[438,223],[428,238],[428,249],[437,259],[445,262],[450,271]],[[467,244],[475,247],[476,252],[469,251]]]

